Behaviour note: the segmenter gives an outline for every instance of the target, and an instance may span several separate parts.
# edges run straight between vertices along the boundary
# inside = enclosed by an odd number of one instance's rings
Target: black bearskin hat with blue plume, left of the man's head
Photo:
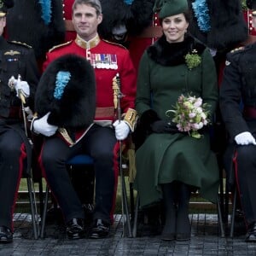
[[[9,40],[32,46],[37,59],[65,39],[62,1],[15,0],[14,8],[7,15]]]

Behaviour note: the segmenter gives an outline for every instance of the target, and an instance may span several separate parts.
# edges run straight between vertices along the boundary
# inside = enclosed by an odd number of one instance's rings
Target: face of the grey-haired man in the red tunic
[[[96,36],[102,15],[96,15],[96,9],[86,4],[78,4],[73,10],[73,26],[81,38],[89,41]]]

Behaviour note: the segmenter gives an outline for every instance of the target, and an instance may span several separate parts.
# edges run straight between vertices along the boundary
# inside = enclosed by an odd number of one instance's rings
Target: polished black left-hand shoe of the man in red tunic
[[[84,236],[84,219],[73,218],[67,222],[67,237],[69,239],[80,239]]]

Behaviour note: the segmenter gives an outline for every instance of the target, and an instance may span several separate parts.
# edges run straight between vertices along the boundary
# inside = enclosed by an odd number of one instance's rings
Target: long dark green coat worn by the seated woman
[[[160,119],[169,120],[166,111],[173,109],[180,95],[201,96],[213,115],[218,104],[218,84],[209,49],[201,53],[201,64],[191,70],[185,63],[163,66],[146,51],[141,59],[136,108],[139,115],[153,109]],[[219,171],[210,149],[209,134],[200,139],[181,133],[152,133],[136,153],[135,188],[142,207],[162,198],[160,183],[181,181],[194,186],[201,196],[216,202]]]

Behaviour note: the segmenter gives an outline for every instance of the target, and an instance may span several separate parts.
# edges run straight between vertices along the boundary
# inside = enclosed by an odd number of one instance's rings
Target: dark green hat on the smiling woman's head
[[[159,12],[159,18],[182,14],[189,9],[187,0],[156,0],[154,12]]]

